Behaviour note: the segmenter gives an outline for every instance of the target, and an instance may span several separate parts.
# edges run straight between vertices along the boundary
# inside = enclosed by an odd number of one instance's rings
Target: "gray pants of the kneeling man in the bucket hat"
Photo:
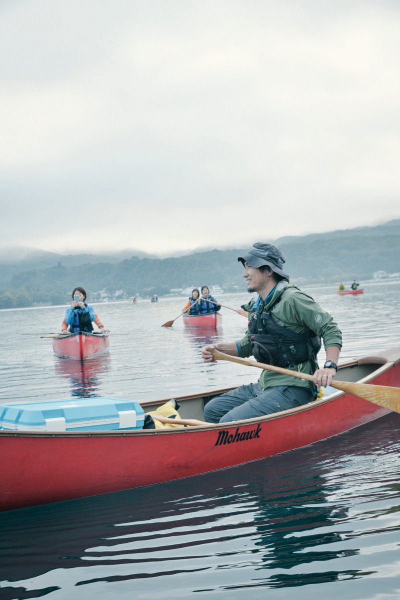
[[[207,402],[204,419],[209,423],[241,421],[293,409],[311,400],[314,400],[314,392],[309,388],[277,385],[263,391],[260,383],[250,383]]]

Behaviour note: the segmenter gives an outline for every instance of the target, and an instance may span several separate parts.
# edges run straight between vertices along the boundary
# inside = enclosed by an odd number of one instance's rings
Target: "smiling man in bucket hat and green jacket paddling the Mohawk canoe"
[[[242,307],[249,313],[248,331],[241,340],[205,346],[204,362],[213,361],[213,348],[241,358],[252,355],[258,362],[312,374],[314,383],[264,370],[257,383],[210,400],[204,419],[211,423],[251,419],[311,402],[318,387],[329,385],[335,376],[342,346],[341,331],[332,316],[289,283],[278,248],[257,242],[237,260],[245,268],[248,292],[258,293]],[[321,338],[326,349],[323,368],[317,363]]]

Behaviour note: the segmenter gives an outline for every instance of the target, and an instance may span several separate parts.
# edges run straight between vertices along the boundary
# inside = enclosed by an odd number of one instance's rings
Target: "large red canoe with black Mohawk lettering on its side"
[[[348,361],[339,369],[341,381],[399,387],[400,347]],[[178,398],[179,413],[183,419],[203,419],[204,403],[224,391]],[[163,403],[146,401],[142,406],[147,411]],[[96,496],[234,467],[302,448],[389,412],[354,395],[333,391],[295,409],[229,424],[123,432],[0,430],[0,456],[4,458],[0,510]]]

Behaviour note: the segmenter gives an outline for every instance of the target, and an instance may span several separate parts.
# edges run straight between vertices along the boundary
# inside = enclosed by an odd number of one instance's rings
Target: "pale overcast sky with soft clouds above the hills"
[[[170,253],[400,217],[397,0],[2,0],[0,245]]]

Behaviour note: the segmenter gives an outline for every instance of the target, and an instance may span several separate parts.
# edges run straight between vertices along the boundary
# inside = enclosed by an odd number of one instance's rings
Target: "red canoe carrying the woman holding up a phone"
[[[107,351],[109,346],[109,334],[77,332],[76,334],[60,335],[53,339],[53,350],[57,356],[81,361],[100,356]]]

